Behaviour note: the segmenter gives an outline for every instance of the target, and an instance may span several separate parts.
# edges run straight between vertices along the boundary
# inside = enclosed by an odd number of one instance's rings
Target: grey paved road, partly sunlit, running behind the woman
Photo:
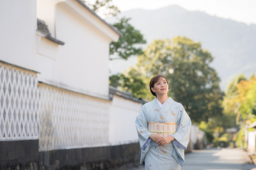
[[[246,164],[247,160],[246,152],[239,148],[193,150],[192,153],[185,155],[182,170],[256,170],[255,165]],[[129,170],[145,170],[145,167],[134,167]]]

